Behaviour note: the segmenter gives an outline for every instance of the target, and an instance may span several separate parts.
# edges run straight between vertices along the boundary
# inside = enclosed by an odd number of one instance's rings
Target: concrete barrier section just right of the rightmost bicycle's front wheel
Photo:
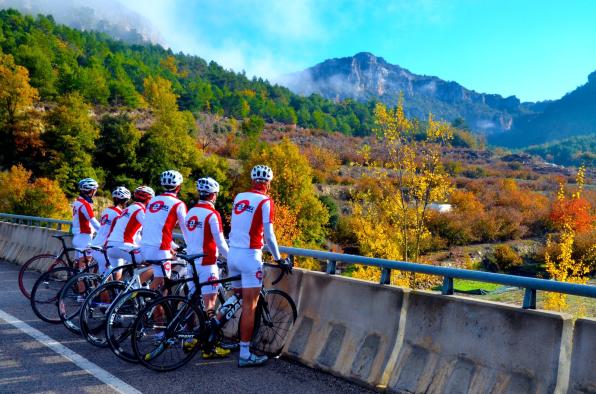
[[[300,280],[299,316],[285,355],[376,386],[396,343],[404,290],[311,271]]]

